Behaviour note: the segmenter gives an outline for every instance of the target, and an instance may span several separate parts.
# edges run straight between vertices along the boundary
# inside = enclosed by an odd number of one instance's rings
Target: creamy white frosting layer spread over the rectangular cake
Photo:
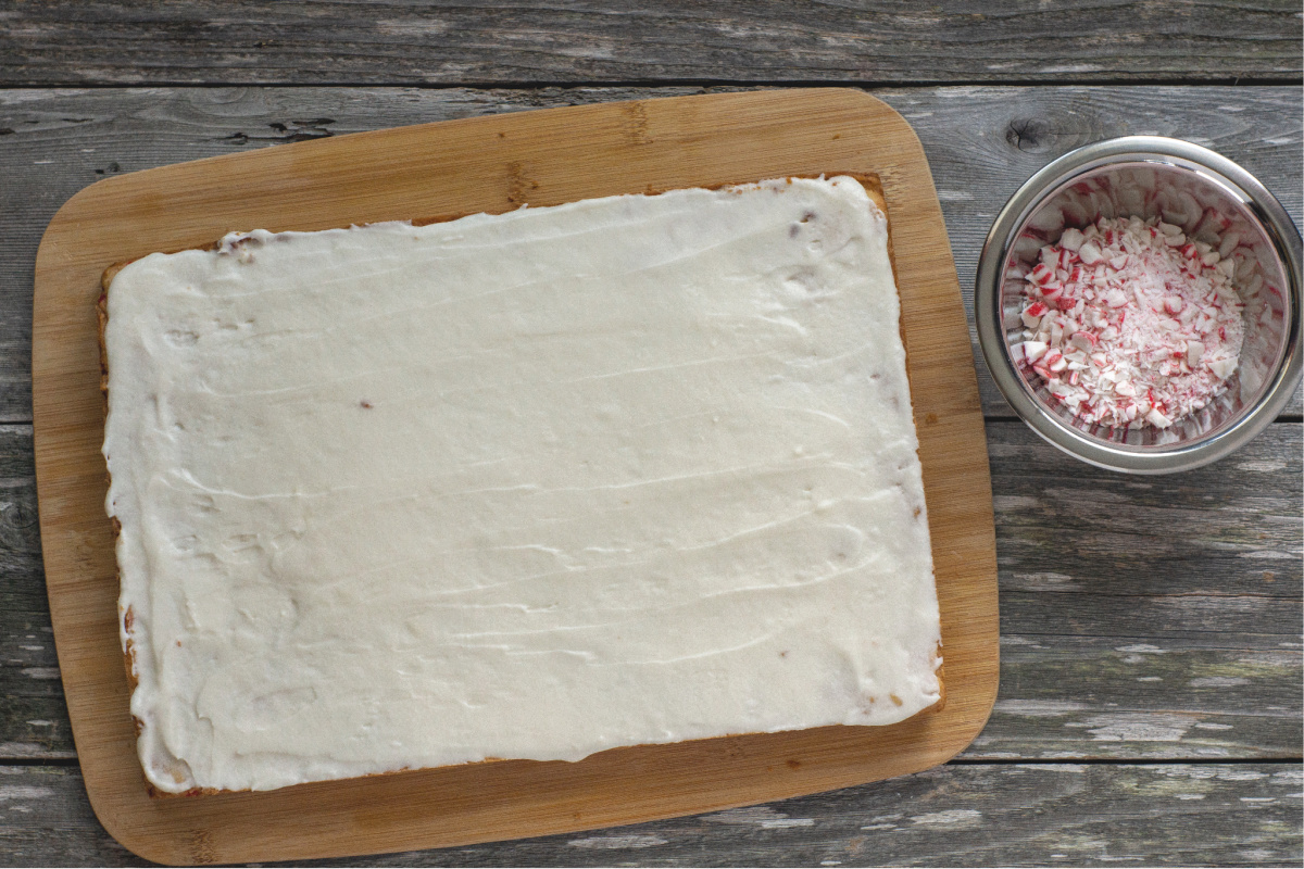
[[[939,698],[853,178],[154,254],[108,512],[164,791],[887,724]]]

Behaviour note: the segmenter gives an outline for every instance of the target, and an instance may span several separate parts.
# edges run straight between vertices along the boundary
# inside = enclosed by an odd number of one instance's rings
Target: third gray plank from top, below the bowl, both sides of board
[[[965,757],[1299,757],[1304,425],[1144,479],[987,440],[1001,687]],[[69,757],[30,426],[0,426],[0,761]]]

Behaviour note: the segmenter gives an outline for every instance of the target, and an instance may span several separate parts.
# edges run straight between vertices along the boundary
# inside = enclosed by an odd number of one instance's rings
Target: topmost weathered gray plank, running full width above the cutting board
[[[1299,77],[1286,0],[5,3],[0,85]]]

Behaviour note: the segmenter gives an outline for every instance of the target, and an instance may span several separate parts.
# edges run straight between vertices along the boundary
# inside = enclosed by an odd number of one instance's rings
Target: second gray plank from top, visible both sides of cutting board
[[[13,130],[0,135],[0,421],[31,418],[35,251],[53,212],[87,184],[119,172],[357,130],[703,90],[0,91],[0,132]],[[1005,199],[1055,156],[1111,135],[1159,133],[1208,145],[1262,178],[1301,223],[1296,87],[928,87],[874,94],[902,112],[923,142],[966,300],[983,237]],[[977,367],[986,413],[1013,416],[981,357]],[[1286,413],[1297,417],[1301,409],[1296,391]]]

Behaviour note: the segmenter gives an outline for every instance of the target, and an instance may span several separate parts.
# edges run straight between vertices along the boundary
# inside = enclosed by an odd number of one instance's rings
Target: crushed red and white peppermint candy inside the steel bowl
[[[1101,218],[1041,249],[1015,362],[1089,425],[1167,429],[1227,390],[1244,339],[1235,263],[1158,218]]]

